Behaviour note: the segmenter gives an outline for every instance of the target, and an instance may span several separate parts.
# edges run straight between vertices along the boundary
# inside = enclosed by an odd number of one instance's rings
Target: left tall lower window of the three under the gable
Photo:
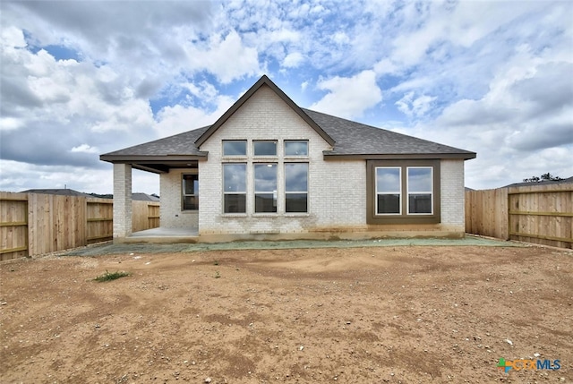
[[[246,212],[246,164],[223,165],[223,205],[225,213]]]

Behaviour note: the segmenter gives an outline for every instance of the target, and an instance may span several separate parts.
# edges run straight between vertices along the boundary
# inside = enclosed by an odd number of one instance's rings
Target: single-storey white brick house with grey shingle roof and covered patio
[[[160,226],[191,241],[462,237],[475,153],[298,107],[262,76],[215,124],[101,155],[114,237],[130,235],[132,168],[160,175]]]

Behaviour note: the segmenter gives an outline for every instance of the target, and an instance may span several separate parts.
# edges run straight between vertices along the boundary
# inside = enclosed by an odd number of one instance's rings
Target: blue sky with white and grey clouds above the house
[[[299,107],[475,151],[470,188],[573,176],[569,0],[3,0],[0,29],[0,191],[111,193],[99,155],[212,124],[262,74]]]

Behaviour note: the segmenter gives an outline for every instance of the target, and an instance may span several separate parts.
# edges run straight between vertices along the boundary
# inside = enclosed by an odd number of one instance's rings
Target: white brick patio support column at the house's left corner
[[[132,234],[132,166],[114,164],[114,241]]]

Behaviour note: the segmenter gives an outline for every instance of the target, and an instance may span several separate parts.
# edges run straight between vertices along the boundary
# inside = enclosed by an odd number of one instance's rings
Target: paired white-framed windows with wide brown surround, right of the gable
[[[368,160],[368,224],[440,223],[440,160]]]

